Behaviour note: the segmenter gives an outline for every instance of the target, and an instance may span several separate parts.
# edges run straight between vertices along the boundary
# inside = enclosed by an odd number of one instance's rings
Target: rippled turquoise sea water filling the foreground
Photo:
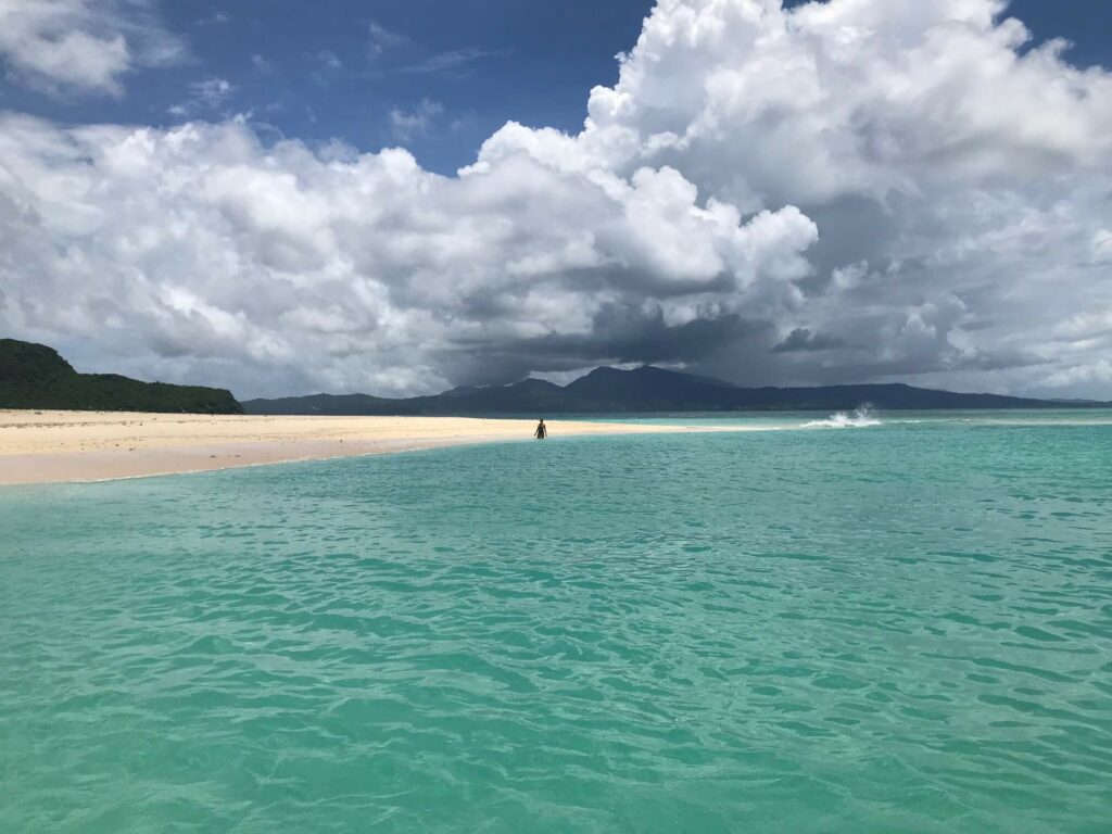
[[[0,490],[0,832],[1109,831],[1112,415],[878,419]]]

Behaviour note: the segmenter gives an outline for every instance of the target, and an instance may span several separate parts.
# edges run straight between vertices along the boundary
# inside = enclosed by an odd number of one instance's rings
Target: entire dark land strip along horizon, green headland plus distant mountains
[[[560,386],[543,379],[463,386],[408,398],[314,394],[249,399],[203,386],[143,383],[115,374],[79,374],[46,345],[0,339],[0,409],[137,411],[328,417],[543,417],[547,415],[731,414],[739,411],[886,411],[1109,408],[1096,400],[1046,400],[963,394],[904,384],[743,388],[653,366],[595,368]]]

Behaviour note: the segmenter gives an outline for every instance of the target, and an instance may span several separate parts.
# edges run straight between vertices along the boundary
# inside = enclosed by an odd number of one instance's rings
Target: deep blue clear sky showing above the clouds
[[[44,97],[0,80],[0,101],[79,123],[250,113],[264,135],[272,126],[272,137],[341,139],[363,151],[400,145],[449,173],[510,119],[579,130],[588,91],[614,83],[614,57],[633,47],[651,8],[648,0],[173,0],[159,13],[185,40],[188,60],[139,71],[119,99]],[[1009,13],[1035,43],[1068,38],[1074,62],[1112,64],[1110,2],[1015,0]]]

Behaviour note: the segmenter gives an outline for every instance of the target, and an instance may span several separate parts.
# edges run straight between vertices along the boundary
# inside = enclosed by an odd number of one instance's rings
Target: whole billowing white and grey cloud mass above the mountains
[[[1002,3],[661,0],[587,113],[456,177],[3,113],[0,324],[241,396],[652,361],[1112,398],[1112,76]]]

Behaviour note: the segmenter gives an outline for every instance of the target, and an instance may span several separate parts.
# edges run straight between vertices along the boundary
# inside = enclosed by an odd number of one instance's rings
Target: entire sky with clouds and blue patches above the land
[[[240,397],[1112,399],[1112,4],[0,0],[0,336]]]

